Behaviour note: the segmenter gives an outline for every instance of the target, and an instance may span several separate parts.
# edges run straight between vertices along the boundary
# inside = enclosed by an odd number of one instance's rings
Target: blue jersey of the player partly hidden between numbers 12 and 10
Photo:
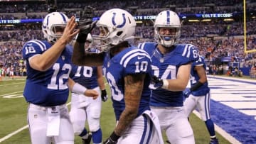
[[[73,65],[72,71],[74,74],[71,78],[75,82],[78,82],[87,89],[94,89],[95,87],[98,87],[99,84],[97,83],[97,67],[81,67]]]

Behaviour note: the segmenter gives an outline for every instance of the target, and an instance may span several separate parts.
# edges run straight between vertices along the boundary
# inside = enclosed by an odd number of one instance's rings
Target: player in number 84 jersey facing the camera
[[[198,48],[177,44],[181,22],[174,11],[161,11],[154,21],[156,43],[141,43],[152,60],[150,106],[159,116],[161,130],[170,143],[195,143],[193,131],[183,110],[183,94],[191,70],[191,62],[198,60]]]

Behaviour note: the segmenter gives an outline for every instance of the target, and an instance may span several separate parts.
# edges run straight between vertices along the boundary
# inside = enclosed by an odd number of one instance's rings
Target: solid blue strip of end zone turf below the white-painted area
[[[241,143],[256,143],[255,116],[247,116],[218,101],[211,100],[210,107],[211,118],[216,125]]]

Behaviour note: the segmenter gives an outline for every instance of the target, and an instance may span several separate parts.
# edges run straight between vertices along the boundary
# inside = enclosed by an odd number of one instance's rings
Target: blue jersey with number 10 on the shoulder
[[[125,108],[124,77],[129,74],[146,74],[137,116],[141,115],[145,110],[150,109],[149,98],[151,90],[149,89],[149,84],[151,59],[144,50],[130,47],[122,50],[122,52],[119,52],[112,58],[106,52],[103,67],[107,82],[110,84],[114,113],[117,121]]]

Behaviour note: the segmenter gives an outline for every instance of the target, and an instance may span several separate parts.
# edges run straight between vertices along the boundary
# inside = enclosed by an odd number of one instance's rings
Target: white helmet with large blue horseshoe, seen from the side
[[[100,16],[96,26],[100,28],[101,33],[104,31],[104,35],[92,35],[95,41],[100,40],[95,46],[107,51],[113,45],[133,40],[136,22],[129,12],[123,9],[110,9]]]

